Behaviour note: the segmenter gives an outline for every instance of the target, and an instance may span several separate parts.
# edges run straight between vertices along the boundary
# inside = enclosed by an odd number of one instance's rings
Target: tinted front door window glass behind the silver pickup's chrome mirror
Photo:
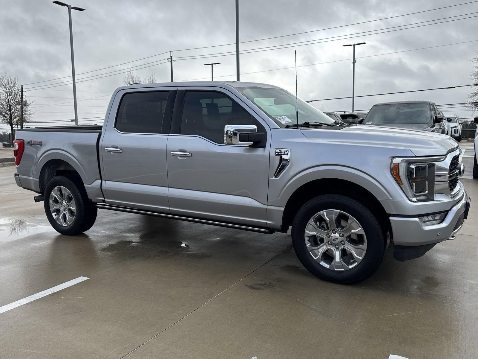
[[[186,91],[180,134],[199,135],[224,144],[227,124],[255,124],[263,128],[249,112],[228,96],[214,91]]]

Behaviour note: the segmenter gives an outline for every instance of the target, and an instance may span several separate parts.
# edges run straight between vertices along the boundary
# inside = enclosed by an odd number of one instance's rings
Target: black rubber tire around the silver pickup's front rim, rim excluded
[[[316,214],[324,210],[339,210],[354,217],[367,238],[367,250],[355,267],[337,271],[319,264],[305,245],[305,226]],[[384,233],[377,217],[362,203],[341,194],[325,194],[306,202],[295,215],[292,224],[292,244],[303,266],[320,279],[336,283],[353,284],[366,280],[380,267],[390,245],[389,233]]]

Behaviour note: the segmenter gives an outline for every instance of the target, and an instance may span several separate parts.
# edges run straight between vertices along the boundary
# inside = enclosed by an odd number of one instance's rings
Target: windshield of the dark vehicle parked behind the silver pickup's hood
[[[371,108],[365,124],[431,124],[428,103],[390,103]]]

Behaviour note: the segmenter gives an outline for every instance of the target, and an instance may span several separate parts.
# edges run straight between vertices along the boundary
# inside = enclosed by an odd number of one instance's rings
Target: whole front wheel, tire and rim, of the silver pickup
[[[306,202],[292,224],[292,243],[304,267],[323,280],[352,284],[379,268],[389,247],[376,216],[341,194]]]

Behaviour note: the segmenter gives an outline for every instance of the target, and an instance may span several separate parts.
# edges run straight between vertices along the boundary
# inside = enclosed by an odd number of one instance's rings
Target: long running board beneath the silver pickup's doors
[[[97,203],[96,207],[98,209],[107,209],[107,210],[110,210],[110,211],[146,214],[146,215],[156,216],[156,217],[178,219],[180,221],[196,222],[196,223],[202,223],[202,224],[217,225],[219,227],[242,229],[244,231],[259,232],[259,233],[265,233],[265,234],[269,234],[269,235],[275,232],[274,230],[269,229],[269,228],[254,227],[254,226],[250,226],[250,225],[234,224],[234,223],[220,222],[220,221],[211,221],[211,220],[207,220],[207,219],[182,216],[182,215],[178,215],[178,214],[151,212],[151,211],[133,209],[133,208],[128,208],[128,207],[113,206],[111,204],[106,204],[106,203]]]

